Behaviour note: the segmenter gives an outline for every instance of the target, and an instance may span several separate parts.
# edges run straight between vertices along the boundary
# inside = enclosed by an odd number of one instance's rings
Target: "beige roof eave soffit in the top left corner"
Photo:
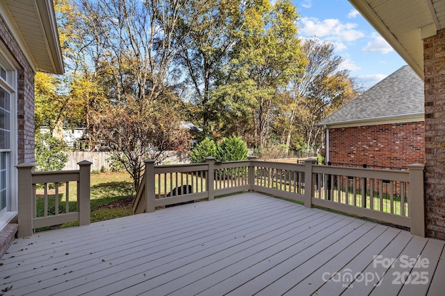
[[[63,73],[63,58],[52,0],[3,0],[5,19],[38,71]]]

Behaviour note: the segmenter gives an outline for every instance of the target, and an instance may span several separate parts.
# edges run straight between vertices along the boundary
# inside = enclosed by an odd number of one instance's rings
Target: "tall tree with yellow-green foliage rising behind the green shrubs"
[[[238,42],[233,46],[227,80],[216,90],[215,105],[252,120],[254,146],[270,141],[273,109],[281,89],[303,71],[297,37],[298,13],[289,0],[248,1]]]

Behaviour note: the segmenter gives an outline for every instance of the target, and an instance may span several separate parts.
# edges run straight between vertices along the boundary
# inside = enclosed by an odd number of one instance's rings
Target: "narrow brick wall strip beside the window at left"
[[[0,17],[0,42],[19,64],[17,70],[17,154],[18,163],[34,162],[34,76],[24,53]]]

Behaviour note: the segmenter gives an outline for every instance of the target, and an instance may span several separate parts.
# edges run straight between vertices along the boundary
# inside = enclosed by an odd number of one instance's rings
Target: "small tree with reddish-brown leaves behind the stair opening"
[[[152,104],[140,109],[136,103],[108,105],[92,119],[96,139],[111,148],[111,155],[124,166],[138,191],[145,169],[144,160],[155,164],[168,157],[167,150],[183,151],[190,147],[190,135],[168,105]]]

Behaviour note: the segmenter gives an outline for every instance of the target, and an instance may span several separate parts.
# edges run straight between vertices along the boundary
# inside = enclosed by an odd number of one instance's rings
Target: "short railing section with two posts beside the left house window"
[[[84,160],[79,170],[51,172],[34,172],[33,164],[19,164],[17,236],[31,236],[33,229],[63,223],[90,224],[91,164]]]

